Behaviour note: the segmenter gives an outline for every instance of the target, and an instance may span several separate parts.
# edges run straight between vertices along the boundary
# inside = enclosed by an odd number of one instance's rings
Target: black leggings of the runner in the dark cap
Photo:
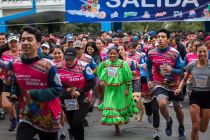
[[[71,127],[75,140],[84,140],[84,125],[83,120],[88,112],[89,103],[84,103],[79,106],[79,110],[65,111],[66,118]]]

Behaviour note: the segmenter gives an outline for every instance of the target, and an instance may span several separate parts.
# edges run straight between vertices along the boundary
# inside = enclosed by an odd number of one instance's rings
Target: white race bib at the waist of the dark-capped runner
[[[65,99],[64,103],[65,103],[66,111],[79,109],[79,104],[77,102],[77,99]]]

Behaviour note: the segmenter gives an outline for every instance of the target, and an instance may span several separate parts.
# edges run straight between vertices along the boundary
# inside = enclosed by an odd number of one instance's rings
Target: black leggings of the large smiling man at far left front
[[[34,140],[36,134],[39,135],[40,140],[58,140],[58,132],[44,132],[25,122],[18,125],[16,140]]]

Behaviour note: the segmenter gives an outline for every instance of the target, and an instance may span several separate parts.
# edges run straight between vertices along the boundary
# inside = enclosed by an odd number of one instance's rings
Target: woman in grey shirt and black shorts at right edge
[[[210,62],[208,61],[208,49],[204,43],[196,45],[198,60],[186,66],[186,75],[179,88],[178,96],[192,75],[192,93],[190,100],[190,115],[192,121],[191,140],[199,140],[198,131],[206,132],[210,116]]]

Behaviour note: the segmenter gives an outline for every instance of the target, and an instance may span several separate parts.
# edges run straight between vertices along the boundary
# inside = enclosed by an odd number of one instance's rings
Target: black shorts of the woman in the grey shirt
[[[192,91],[190,105],[196,104],[201,109],[210,109],[210,91]]]

